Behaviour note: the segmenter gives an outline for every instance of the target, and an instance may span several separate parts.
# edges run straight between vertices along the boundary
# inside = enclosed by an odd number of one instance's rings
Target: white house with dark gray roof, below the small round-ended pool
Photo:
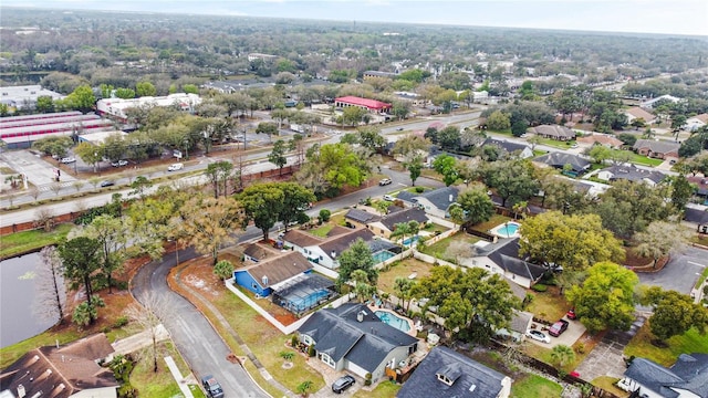
[[[496,242],[479,241],[473,244],[473,249],[475,255],[464,259],[462,265],[500,274],[523,287],[531,287],[545,273],[543,266],[530,263],[519,255],[519,238],[499,239]]]

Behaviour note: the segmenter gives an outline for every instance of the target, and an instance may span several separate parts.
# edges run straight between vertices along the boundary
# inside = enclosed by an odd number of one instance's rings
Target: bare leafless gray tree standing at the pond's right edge
[[[43,321],[64,321],[66,287],[62,276],[62,260],[54,247],[40,251],[34,283],[32,312]]]

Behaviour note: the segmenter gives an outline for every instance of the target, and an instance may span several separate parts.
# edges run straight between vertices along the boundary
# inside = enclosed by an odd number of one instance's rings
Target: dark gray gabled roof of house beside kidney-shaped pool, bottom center
[[[362,322],[357,320],[360,313]],[[312,337],[317,352],[335,362],[346,357],[367,371],[374,371],[394,348],[418,343],[417,338],[381,322],[366,305],[355,303],[320,310],[298,332]]]

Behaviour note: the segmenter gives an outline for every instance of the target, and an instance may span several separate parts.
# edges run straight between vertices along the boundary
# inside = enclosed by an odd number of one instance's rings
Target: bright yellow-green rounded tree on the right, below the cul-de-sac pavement
[[[590,333],[606,327],[626,331],[634,322],[638,283],[633,271],[612,262],[598,262],[587,270],[583,285],[572,286],[565,296]]]

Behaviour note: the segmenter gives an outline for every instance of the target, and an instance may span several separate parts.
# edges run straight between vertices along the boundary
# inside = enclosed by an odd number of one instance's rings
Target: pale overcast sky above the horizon
[[[24,0],[21,4],[53,9],[708,35],[708,0]]]

